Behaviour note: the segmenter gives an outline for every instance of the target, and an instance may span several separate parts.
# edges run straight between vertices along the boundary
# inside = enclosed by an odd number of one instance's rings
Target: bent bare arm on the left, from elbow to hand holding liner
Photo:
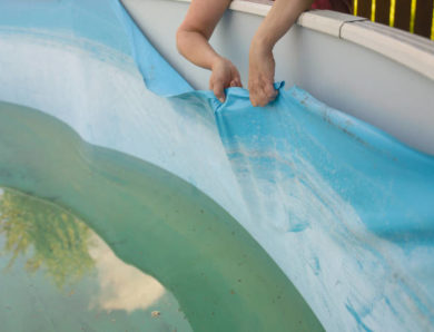
[[[225,100],[225,88],[241,86],[235,66],[219,56],[208,43],[229,3],[230,0],[193,0],[176,36],[178,50],[184,57],[213,71],[209,88],[221,102]]]

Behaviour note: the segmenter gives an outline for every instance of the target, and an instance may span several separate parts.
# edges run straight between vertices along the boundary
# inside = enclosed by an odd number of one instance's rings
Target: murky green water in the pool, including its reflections
[[[7,331],[322,330],[219,205],[53,117],[0,102],[0,186]]]

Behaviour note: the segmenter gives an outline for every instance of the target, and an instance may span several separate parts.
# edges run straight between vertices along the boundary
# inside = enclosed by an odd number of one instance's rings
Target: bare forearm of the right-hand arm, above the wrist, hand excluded
[[[307,10],[313,0],[276,0],[253,39],[253,45],[273,49],[275,43],[289,30],[298,16]]]

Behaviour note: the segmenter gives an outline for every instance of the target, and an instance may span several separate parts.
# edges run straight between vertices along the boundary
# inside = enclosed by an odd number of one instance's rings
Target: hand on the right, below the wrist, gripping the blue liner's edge
[[[249,55],[248,90],[253,106],[266,106],[277,96],[274,88],[275,61],[272,48],[253,40]]]

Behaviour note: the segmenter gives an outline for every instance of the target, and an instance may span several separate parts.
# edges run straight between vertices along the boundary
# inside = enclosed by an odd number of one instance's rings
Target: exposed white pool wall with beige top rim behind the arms
[[[179,56],[175,33],[189,1],[122,0],[161,55],[197,89],[209,72]],[[249,42],[269,4],[231,2],[211,37],[244,85]],[[165,18],[165,19],[161,19]],[[348,14],[302,14],[275,48],[276,80],[297,85],[327,105],[434,155],[434,42]]]

